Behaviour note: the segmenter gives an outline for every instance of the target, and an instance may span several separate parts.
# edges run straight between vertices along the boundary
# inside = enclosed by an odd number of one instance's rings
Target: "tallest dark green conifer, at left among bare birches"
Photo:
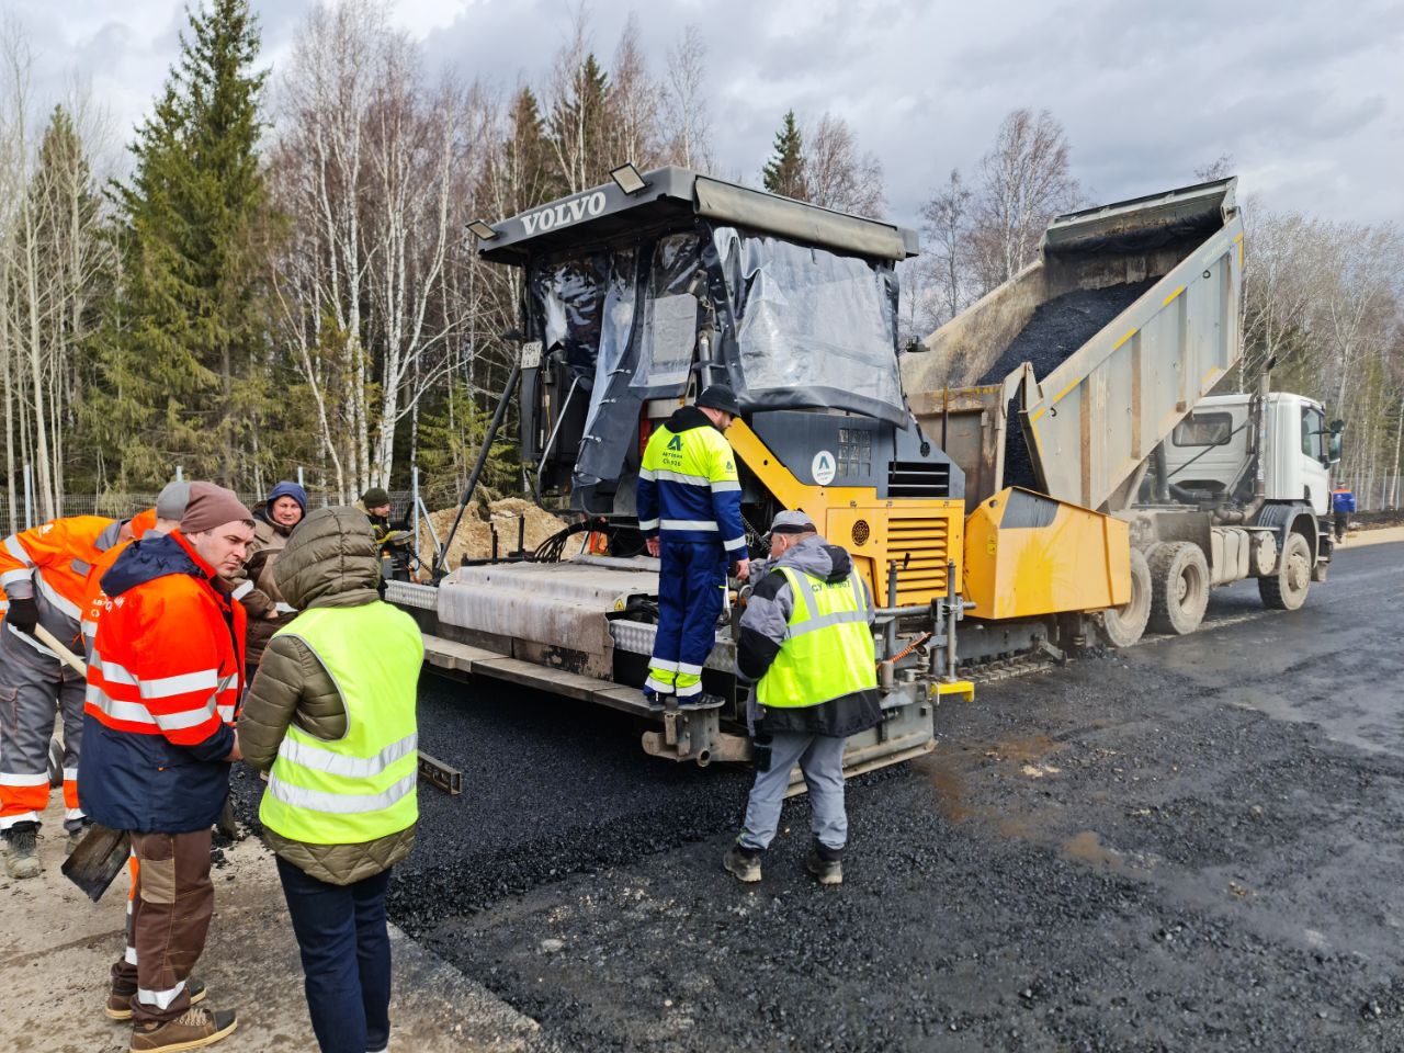
[[[177,463],[233,484],[268,409],[257,53],[247,0],[192,11],[117,188],[124,285],[98,404],[129,484],[156,484]]]

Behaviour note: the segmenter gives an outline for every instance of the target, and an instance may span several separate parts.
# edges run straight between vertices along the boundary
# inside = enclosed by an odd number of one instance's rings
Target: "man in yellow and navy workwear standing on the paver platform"
[[[741,483],[726,430],[741,413],[736,393],[715,383],[653,432],[639,469],[639,529],[661,560],[658,635],[644,698],[703,705],[702,665],[716,642],[726,571],[743,581],[751,563],[741,524]]]

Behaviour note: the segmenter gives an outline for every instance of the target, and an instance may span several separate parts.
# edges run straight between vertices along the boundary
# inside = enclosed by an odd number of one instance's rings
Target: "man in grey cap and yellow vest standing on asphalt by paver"
[[[755,681],[755,785],[722,865],[739,880],[761,880],[761,852],[779,827],[797,764],[813,812],[806,866],[823,885],[840,885],[848,841],[844,743],[882,722],[876,614],[852,557],[819,536],[804,512],[775,517],[767,567],[741,615],[736,650],[737,673]]]

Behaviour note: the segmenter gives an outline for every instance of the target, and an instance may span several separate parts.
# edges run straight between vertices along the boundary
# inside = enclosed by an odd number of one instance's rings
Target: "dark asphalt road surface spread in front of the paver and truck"
[[[786,806],[719,866],[747,778],[636,724],[425,681],[392,910],[564,1050],[1404,1050],[1404,545],[1306,609],[981,688],[849,790],[845,885]],[[249,788],[250,779],[241,781]]]

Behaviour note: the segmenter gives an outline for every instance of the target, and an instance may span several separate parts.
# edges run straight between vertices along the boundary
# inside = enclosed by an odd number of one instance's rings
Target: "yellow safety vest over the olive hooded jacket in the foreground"
[[[347,709],[336,741],[296,726],[278,747],[258,819],[275,834],[317,845],[362,844],[418,819],[416,689],[424,639],[389,604],[303,611],[274,633],[302,640]]]

